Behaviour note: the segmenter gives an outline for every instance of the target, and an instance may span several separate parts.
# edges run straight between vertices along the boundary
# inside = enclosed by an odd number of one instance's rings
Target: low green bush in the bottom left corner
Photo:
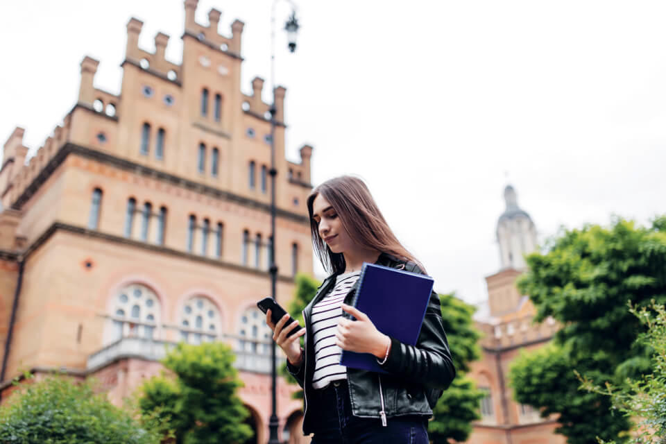
[[[28,377],[32,379],[32,377]],[[49,376],[26,382],[0,407],[0,442],[6,444],[158,444],[153,422],[111,404],[93,382]]]

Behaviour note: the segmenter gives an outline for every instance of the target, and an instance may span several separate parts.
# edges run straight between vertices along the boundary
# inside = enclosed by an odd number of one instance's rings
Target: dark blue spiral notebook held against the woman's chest
[[[402,343],[416,345],[433,284],[434,280],[426,275],[366,262],[350,305],[368,315],[380,332]],[[342,350],[340,364],[387,373],[370,353]]]

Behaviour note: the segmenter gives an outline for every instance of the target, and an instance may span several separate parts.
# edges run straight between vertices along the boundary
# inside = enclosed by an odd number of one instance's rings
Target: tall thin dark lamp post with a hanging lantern
[[[275,176],[278,171],[275,169],[275,5],[280,0],[273,0],[271,7],[271,92],[273,92],[273,104],[271,105],[271,241],[270,241],[270,256],[271,266],[269,271],[271,273],[271,298],[275,299],[275,284],[278,280],[278,266],[275,265]],[[298,20],[296,19],[296,5],[291,0],[287,1],[292,8],[291,16],[284,25],[287,31],[287,38],[289,42],[289,51],[293,53],[296,51],[296,33],[298,32]],[[271,418],[268,420],[268,444],[280,444],[278,437],[278,414],[276,413],[276,368],[275,368],[275,342],[271,348]]]

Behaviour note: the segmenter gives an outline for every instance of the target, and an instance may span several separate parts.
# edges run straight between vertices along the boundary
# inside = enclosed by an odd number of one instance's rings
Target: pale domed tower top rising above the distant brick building
[[[497,243],[501,268],[526,268],[524,255],[536,250],[536,226],[529,214],[518,207],[518,198],[511,185],[504,189],[506,210],[497,221]]]

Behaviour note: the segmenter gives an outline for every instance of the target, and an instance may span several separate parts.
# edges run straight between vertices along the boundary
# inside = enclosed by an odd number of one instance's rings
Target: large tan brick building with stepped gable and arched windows
[[[99,378],[119,401],[160,371],[165,344],[225,341],[265,443],[271,337],[255,302],[271,291],[269,105],[261,78],[241,93],[243,22],[220,34],[220,11],[205,26],[196,7],[185,1],[180,64],[164,58],[163,33],[153,52],[139,48],[142,22],[130,19],[119,94],[94,86],[99,62],[85,57],[76,105],[29,162],[22,128],[4,145],[0,393],[22,370],[62,369]],[[312,148],[299,163],[285,158],[285,93],[271,92],[283,304],[296,271],[312,272]],[[279,379],[291,441],[301,436],[295,389]]]

